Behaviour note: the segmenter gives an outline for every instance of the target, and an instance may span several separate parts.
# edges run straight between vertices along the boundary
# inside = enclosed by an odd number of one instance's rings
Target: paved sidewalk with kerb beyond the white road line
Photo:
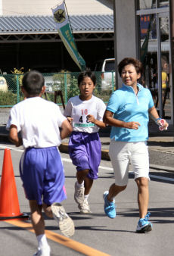
[[[9,109],[2,109],[0,114],[0,142],[9,143],[8,131],[5,129]],[[101,138],[101,158],[109,161],[110,127],[100,130],[99,135]],[[67,153],[67,145],[68,139],[64,139],[60,145],[60,151]],[[174,130],[172,127],[169,126],[167,131],[160,132],[154,121],[150,120],[148,148],[151,167],[174,171]]]

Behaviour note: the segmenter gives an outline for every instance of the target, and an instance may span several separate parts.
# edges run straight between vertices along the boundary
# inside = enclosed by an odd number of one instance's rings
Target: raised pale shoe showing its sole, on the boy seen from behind
[[[75,232],[73,220],[68,216],[64,207],[59,203],[51,204],[51,211],[54,217],[54,220],[57,221],[61,233],[64,236],[73,236]]]

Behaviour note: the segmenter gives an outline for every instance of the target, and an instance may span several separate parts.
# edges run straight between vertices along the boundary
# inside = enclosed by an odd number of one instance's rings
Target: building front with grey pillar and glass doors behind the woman
[[[173,0],[114,2],[117,63],[125,57],[141,60],[144,65],[141,83],[151,90],[160,117],[165,117],[171,126],[174,116],[173,3]],[[119,77],[117,84],[121,85]]]

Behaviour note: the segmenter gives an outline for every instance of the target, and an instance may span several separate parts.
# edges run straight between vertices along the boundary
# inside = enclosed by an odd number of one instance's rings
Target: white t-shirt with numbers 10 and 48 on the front
[[[82,101],[79,95],[72,97],[67,102],[64,110],[65,117],[73,118],[73,131],[85,133],[97,133],[99,127],[88,120],[88,115],[92,114],[95,119],[102,121],[106,105],[100,98],[92,95],[88,101]]]

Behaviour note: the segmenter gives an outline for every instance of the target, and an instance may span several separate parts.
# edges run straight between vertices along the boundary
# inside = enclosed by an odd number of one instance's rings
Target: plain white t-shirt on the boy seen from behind
[[[66,120],[60,108],[40,97],[26,98],[11,108],[7,130],[14,124],[23,147],[47,148],[61,144],[59,127]]]

